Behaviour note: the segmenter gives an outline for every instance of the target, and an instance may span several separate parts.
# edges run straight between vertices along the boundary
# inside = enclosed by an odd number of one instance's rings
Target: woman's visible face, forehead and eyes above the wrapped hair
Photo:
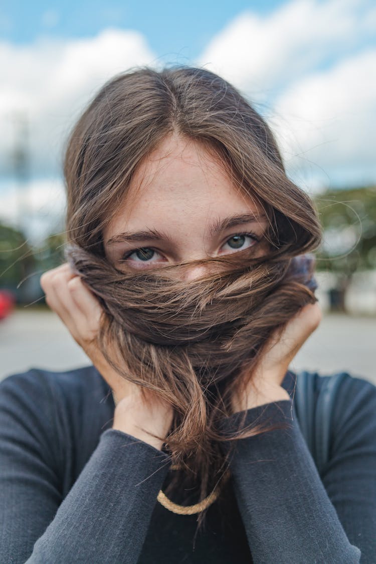
[[[264,249],[267,218],[241,194],[213,156],[171,135],[139,166],[130,190],[103,233],[114,266],[137,270]],[[257,239],[260,239],[258,241]],[[192,266],[185,280],[206,274]]]

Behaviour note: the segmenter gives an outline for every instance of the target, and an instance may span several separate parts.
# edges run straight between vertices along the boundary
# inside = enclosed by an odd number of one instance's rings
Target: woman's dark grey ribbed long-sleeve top
[[[94,367],[30,369],[0,383],[0,562],[28,564],[376,563],[376,386],[348,376],[320,476],[290,400],[247,411],[287,429],[237,439],[224,517],[217,500],[192,549],[197,515],[156,501],[163,451],[112,429]],[[317,379],[317,392],[325,377]],[[236,429],[234,414],[223,421]],[[271,419],[269,419],[271,418]]]

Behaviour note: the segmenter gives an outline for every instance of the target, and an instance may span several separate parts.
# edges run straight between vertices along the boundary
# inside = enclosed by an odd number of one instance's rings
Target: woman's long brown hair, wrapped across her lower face
[[[146,272],[108,261],[103,230],[141,161],[172,133],[218,158],[234,186],[267,215],[262,257],[251,246]],[[228,469],[225,442],[276,428],[244,428],[244,412],[238,431],[226,435],[221,420],[233,415],[232,395],[251,382],[271,333],[317,301],[317,211],[287,178],[253,105],[216,74],[181,65],[131,69],[105,83],[69,135],[64,176],[66,257],[103,306],[98,346],[124,378],[173,408],[162,440],[179,470],[167,495],[194,483],[203,499]],[[201,264],[210,269],[200,279],[174,276],[175,268]],[[109,355],[109,345],[116,354]],[[184,501],[192,501],[192,488]]]

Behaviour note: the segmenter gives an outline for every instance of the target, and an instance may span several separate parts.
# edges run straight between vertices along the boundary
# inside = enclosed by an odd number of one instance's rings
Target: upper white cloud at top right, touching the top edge
[[[369,6],[369,0],[293,0],[267,16],[244,12],[213,38],[198,64],[264,100],[371,36]]]

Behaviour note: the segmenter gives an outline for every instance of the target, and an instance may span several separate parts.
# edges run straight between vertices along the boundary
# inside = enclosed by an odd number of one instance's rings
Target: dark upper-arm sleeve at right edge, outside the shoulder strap
[[[348,376],[322,481],[361,563],[376,562],[376,386]]]

